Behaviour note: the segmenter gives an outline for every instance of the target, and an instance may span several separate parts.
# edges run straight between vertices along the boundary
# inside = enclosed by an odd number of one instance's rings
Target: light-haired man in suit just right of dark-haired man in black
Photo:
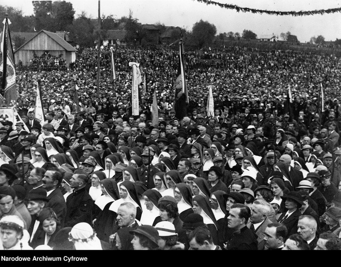
[[[271,208],[265,200],[255,200],[250,207],[251,216],[247,227],[254,231],[257,235],[258,250],[264,250],[265,240],[264,231],[268,224],[272,223],[267,218],[267,214],[270,213]]]

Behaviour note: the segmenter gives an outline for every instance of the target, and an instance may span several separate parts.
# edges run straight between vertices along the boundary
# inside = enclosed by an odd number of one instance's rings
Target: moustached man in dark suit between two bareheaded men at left
[[[42,187],[47,190],[47,207],[53,209],[62,227],[65,223],[66,202],[63,193],[60,189],[60,184],[63,180],[63,175],[58,168],[46,170],[42,179]]]

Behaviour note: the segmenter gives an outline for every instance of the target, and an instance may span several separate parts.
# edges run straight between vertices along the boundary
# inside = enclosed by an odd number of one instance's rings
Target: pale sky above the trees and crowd
[[[67,1],[67,0],[66,0]],[[200,20],[214,24],[217,34],[251,30],[257,37],[276,35],[290,31],[302,43],[311,37],[322,35],[325,41],[341,39],[341,13],[279,16],[237,12],[215,5],[206,5],[196,0],[69,0],[76,11],[75,17],[85,11],[87,16],[98,17],[98,3],[101,15],[114,15],[116,18],[133,17],[142,24],[161,23],[165,26],[178,26],[191,30]],[[215,0],[222,4],[272,11],[312,11],[341,8],[341,0]],[[1,0],[0,5],[23,10],[24,15],[33,14],[32,2],[28,0]]]

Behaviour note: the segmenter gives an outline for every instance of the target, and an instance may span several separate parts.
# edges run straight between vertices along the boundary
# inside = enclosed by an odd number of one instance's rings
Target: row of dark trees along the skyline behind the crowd
[[[73,5],[66,1],[32,1],[34,15],[24,16],[23,11],[12,7],[0,6],[0,14],[4,17],[5,13],[9,14],[9,18],[12,22],[11,31],[13,32],[33,32],[40,31],[42,29],[56,32],[66,31],[69,32],[71,40],[77,42],[81,47],[92,47],[98,39],[98,20],[88,16],[84,11],[75,18],[75,10]],[[143,29],[141,24],[138,23],[138,19],[133,17],[130,11],[128,16],[116,18],[114,15],[102,15],[101,17],[101,40],[105,40],[107,33],[112,29],[124,29],[127,31],[126,41],[128,44],[141,45],[143,40],[148,41],[148,31]],[[166,26],[161,23],[156,23],[155,26],[159,29],[159,33],[162,34],[166,30]],[[210,47],[214,41],[217,40],[224,43],[226,37],[229,39],[244,39],[255,40],[257,34],[251,30],[244,30],[241,34],[239,32],[224,32],[218,36],[217,28],[213,24],[207,21],[200,20],[195,23],[188,31],[181,29],[174,33],[174,39],[183,38],[186,42],[186,46],[200,49],[203,47]],[[282,40],[288,40],[291,33],[280,34]],[[25,40],[19,40],[20,37],[16,37],[18,40],[13,42],[20,46]],[[288,40],[289,41],[289,40]],[[325,39],[319,35],[312,37],[311,43],[324,44]],[[341,41],[340,41],[341,42]],[[147,42],[148,43],[148,42]]]

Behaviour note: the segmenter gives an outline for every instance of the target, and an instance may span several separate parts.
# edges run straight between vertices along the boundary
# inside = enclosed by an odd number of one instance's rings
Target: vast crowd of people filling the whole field
[[[96,49],[17,71],[23,122],[0,121],[0,249],[341,249],[339,58],[186,51],[189,103],[176,117],[178,51],[113,51],[114,81],[110,47],[99,84]],[[138,116],[129,62],[146,78]]]

